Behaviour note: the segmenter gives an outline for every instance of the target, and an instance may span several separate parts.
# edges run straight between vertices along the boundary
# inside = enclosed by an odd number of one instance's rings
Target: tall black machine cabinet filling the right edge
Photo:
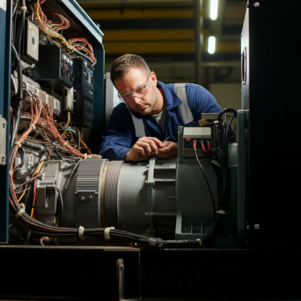
[[[247,240],[269,246],[299,240],[299,12],[299,1],[249,1],[241,36]]]

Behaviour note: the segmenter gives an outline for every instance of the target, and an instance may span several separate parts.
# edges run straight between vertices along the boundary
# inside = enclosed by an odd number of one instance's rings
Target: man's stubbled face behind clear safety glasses
[[[120,95],[124,95],[143,85],[147,80],[147,76],[148,75],[146,75],[141,70],[132,68],[126,74],[126,76],[115,80],[115,87]],[[149,77],[149,90],[141,98],[136,97],[134,94],[133,101],[126,102],[128,107],[144,116],[151,114],[157,103],[157,91],[155,88],[156,86],[156,75],[154,72],[151,72]]]

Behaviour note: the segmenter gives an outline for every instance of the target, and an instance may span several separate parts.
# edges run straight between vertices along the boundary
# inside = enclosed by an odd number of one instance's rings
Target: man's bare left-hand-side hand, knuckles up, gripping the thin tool
[[[126,162],[137,162],[139,160],[147,160],[152,155],[157,157],[157,154],[160,151],[158,146],[164,147],[166,142],[162,144],[162,142],[155,137],[141,137],[134,144],[131,150],[124,156],[123,160]]]

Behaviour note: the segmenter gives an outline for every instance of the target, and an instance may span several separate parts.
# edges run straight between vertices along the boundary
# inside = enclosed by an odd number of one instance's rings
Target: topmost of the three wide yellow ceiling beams
[[[123,8],[123,9],[86,9],[92,20],[120,19],[157,19],[157,18],[193,18],[192,8]]]

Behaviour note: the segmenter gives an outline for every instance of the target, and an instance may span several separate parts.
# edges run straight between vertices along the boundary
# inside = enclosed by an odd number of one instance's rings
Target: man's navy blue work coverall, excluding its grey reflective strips
[[[195,122],[201,119],[201,113],[219,113],[222,110],[216,103],[215,98],[205,88],[187,83],[185,85],[187,103],[194,121],[184,124],[178,109],[182,101],[175,94],[174,85],[165,85],[162,82],[157,82],[157,87],[162,88],[165,95],[165,133],[151,116],[142,116],[131,110],[134,116],[143,119],[147,137],[156,137],[163,141],[170,136],[168,141],[177,143],[178,126],[193,126]],[[135,135],[135,126],[126,104],[120,103],[113,109],[106,130],[107,132],[102,136],[99,154],[110,161],[123,160],[130,148],[139,139]]]

